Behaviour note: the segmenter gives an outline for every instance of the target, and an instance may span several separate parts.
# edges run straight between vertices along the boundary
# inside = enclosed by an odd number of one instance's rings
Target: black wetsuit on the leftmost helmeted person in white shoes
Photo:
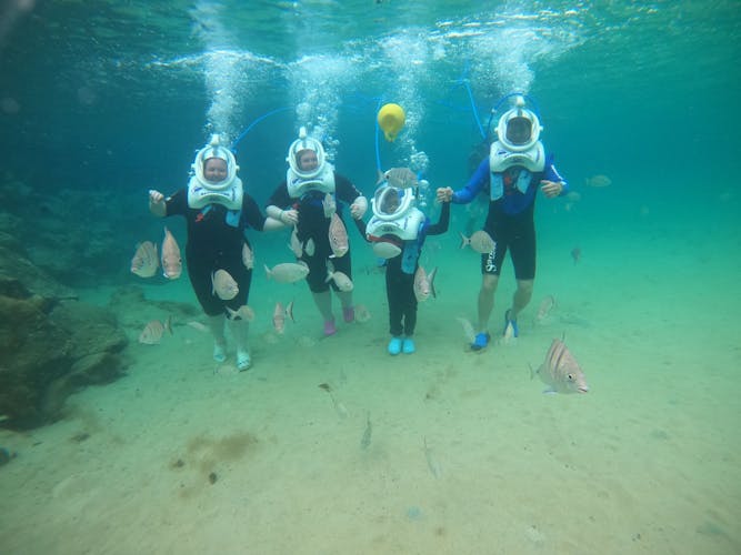
[[[252,270],[242,263],[242,245],[250,245],[244,235],[248,228],[262,231],[266,216],[254,199],[244,193],[241,211],[228,211],[221,204],[208,204],[202,209],[188,206],[188,189],[181,189],[167,200],[167,215],[183,215],[188,225],[186,261],[188,276],[198,302],[209,316],[236,311],[247,304],[252,282]],[[226,270],[239,285],[239,293],[223,301],[213,293],[211,275]]]

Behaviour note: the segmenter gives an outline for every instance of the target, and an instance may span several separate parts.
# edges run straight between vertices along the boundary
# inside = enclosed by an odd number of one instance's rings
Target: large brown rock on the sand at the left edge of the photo
[[[0,234],[0,425],[56,420],[70,393],[121,373],[114,314],[76,300]]]

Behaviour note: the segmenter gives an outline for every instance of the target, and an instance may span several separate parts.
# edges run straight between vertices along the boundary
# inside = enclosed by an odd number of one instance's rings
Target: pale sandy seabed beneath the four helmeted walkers
[[[541,242],[521,336],[480,354],[457,321],[473,319],[478,262],[452,236],[431,249],[439,296],[413,355],[385,353],[383,280],[360,255],[372,319],[328,339],[303,284],[256,279],[246,373],[182,322],[157,346],[127,330],[122,379],[53,425],[0,431],[18,453],[0,467],[0,552],[741,553],[739,230],[680,235],[585,238],[578,264]],[[187,280],[144,286],[194,302]],[[512,286],[508,265],[497,332]],[[278,336],[272,305],[290,299]],[[530,379],[562,334],[585,395]]]

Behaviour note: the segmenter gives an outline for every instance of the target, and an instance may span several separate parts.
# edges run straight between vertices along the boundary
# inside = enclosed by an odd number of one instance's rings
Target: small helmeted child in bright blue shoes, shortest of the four
[[[412,189],[397,189],[382,183],[372,201],[373,218],[364,226],[373,252],[385,262],[385,294],[389,301],[389,354],[412,354],[417,329],[415,281],[421,272],[419,265],[422,245],[428,235],[440,235],[448,231],[450,202],[443,202],[438,223],[431,223],[424,213],[414,206]],[[428,275],[432,281],[433,275]],[[418,285],[419,286],[419,285]],[[432,286],[432,284],[430,284]]]

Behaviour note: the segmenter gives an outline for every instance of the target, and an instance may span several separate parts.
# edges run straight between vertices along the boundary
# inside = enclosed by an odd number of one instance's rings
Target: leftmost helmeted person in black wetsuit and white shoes
[[[234,155],[219,145],[218,135],[198,152],[192,169],[188,186],[172,195],[166,198],[159,191],[150,191],[149,210],[160,218],[186,218],[188,276],[209,316],[214,337],[213,359],[223,362],[227,357],[224,323],[228,323],[237,343],[237,367],[248,370],[251,366],[246,320],[249,311],[240,307],[247,305],[250,294],[252,246],[244,231],[277,230],[284,225],[262,215],[237,176]],[[239,292],[233,299],[221,299],[214,291],[213,275],[218,270],[224,270],[237,282]]]

